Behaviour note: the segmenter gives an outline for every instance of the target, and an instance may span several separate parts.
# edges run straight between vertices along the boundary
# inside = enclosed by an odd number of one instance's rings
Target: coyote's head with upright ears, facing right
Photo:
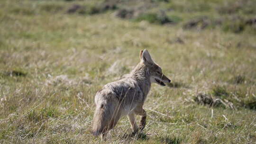
[[[140,61],[146,65],[151,83],[155,82],[161,86],[165,86],[165,83],[171,82],[171,80],[163,74],[161,67],[152,60],[146,49],[140,51]]]

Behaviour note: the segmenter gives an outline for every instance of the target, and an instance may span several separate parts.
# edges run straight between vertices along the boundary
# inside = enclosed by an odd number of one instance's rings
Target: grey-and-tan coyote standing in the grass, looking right
[[[127,116],[133,134],[142,131],[146,125],[146,111],[142,108],[151,83],[165,86],[170,83],[148,51],[140,51],[140,63],[124,78],[103,86],[96,93],[96,110],[93,117],[91,133],[102,138],[107,131],[116,126],[120,117]],[[164,83],[165,82],[165,83]],[[135,115],[141,116],[139,127]]]

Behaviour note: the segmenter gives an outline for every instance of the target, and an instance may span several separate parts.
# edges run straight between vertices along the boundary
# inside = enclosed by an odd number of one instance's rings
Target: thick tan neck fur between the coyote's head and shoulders
[[[138,63],[137,66],[130,72],[130,77],[138,82],[140,89],[143,91],[144,97],[150,90],[151,81],[146,65]]]

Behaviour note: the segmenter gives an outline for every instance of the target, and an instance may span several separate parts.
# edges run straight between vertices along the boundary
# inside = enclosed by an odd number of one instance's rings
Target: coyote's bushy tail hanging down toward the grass
[[[112,115],[113,114],[108,107],[102,105],[100,108],[96,108],[92,121],[91,134],[98,136],[105,133],[109,128]]]

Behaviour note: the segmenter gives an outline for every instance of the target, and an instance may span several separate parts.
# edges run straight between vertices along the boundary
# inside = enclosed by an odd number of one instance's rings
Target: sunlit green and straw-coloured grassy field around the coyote
[[[1,144],[256,144],[254,0],[102,3],[0,0]],[[135,6],[146,10],[117,17]],[[125,136],[123,117],[101,142],[94,95],[141,49],[173,82],[152,84],[144,134]]]

